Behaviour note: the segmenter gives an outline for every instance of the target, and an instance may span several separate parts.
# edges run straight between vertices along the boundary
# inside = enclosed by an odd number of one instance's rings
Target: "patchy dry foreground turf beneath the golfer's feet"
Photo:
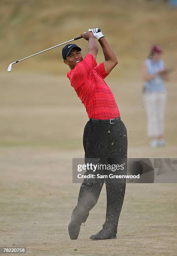
[[[72,157],[82,155],[0,148],[0,244],[26,246],[27,255],[175,255],[176,184],[127,184],[118,239],[91,241],[105,219],[103,187],[78,240],[70,240],[67,225],[80,187],[72,184]]]

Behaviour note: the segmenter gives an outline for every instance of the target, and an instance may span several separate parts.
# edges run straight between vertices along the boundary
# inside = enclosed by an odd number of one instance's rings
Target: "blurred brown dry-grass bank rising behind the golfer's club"
[[[1,67],[74,38],[98,26],[120,61],[113,76],[136,75],[152,44],[160,44],[167,64],[176,67],[177,12],[164,1],[0,1]],[[87,51],[83,39],[77,42]],[[102,60],[100,52],[98,62]],[[61,48],[15,66],[15,70],[63,74]]]

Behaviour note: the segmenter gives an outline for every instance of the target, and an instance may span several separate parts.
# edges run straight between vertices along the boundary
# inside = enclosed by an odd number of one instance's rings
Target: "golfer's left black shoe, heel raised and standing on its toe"
[[[70,221],[70,224],[68,226],[68,231],[69,231],[69,235],[70,235],[71,240],[76,240],[78,238],[79,233],[80,233],[80,226],[82,225],[82,223],[85,223],[85,221],[87,220],[88,215],[89,215],[89,213],[80,217],[80,214],[78,213],[77,206],[72,211],[71,221]]]

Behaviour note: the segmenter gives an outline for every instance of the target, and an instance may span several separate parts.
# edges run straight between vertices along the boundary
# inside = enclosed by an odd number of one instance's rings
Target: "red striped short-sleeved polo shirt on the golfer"
[[[87,54],[67,73],[71,86],[84,104],[89,118],[120,117],[114,95],[104,81],[107,75],[104,63],[97,65],[92,54]]]

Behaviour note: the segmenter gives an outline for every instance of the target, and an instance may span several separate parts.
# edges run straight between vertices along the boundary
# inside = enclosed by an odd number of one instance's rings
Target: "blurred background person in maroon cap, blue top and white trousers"
[[[147,111],[147,136],[151,138],[150,146],[165,146],[165,107],[167,90],[165,81],[169,79],[170,69],[166,69],[161,59],[162,49],[154,45],[148,59],[143,64],[145,79],[143,97]]]

